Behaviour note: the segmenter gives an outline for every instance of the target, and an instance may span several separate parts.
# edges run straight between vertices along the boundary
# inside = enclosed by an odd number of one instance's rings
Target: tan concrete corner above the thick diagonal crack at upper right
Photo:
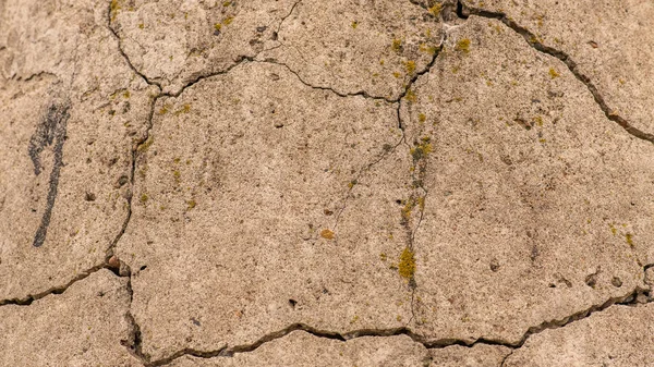
[[[643,0],[464,0],[504,13],[542,42],[568,54],[607,106],[654,134],[654,3]]]

